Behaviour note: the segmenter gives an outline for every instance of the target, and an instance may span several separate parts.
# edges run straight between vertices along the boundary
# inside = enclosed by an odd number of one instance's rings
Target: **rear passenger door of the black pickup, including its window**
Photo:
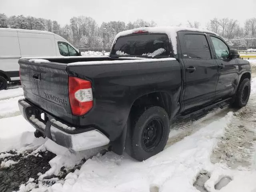
[[[185,66],[184,110],[215,99],[218,66],[210,50],[208,37],[199,32],[179,32]]]

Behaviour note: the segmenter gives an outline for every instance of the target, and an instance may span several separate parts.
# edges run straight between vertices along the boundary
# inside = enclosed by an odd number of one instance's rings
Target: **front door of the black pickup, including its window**
[[[218,83],[216,86],[216,97],[223,98],[232,96],[238,86],[239,70],[236,58],[228,58],[229,47],[219,37],[210,35],[214,57],[218,65]]]

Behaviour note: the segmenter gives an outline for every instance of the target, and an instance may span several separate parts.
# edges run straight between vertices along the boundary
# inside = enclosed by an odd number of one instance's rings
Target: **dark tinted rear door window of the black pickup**
[[[183,38],[182,54],[189,58],[210,59],[206,37],[200,34],[186,34]]]

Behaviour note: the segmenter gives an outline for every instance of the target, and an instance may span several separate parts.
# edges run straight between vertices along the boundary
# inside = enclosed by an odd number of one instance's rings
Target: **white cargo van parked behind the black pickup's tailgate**
[[[47,31],[0,28],[0,90],[20,80],[20,57],[80,56],[72,44]]]

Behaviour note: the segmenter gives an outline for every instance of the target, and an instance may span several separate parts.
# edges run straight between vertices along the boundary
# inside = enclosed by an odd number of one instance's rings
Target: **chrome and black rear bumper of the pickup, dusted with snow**
[[[30,122],[36,130],[66,148],[70,148],[74,151],[82,151],[104,146],[110,142],[106,135],[95,128],[88,128],[84,132],[72,133],[70,130],[76,130],[76,128],[69,127],[57,119],[42,120],[40,118],[42,111],[32,106],[24,99],[18,101],[18,106],[22,116]],[[69,131],[65,131],[65,129]]]

